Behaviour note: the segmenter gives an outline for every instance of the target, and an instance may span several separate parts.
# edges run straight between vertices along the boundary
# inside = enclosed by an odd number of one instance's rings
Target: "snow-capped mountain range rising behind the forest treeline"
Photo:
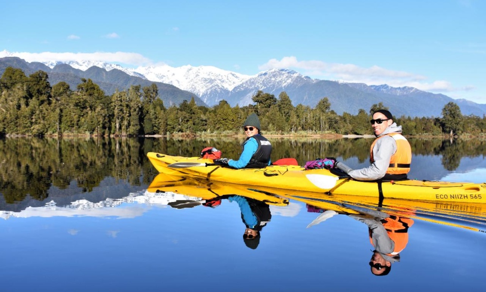
[[[7,55],[6,51],[0,53]],[[212,66],[187,65],[174,68],[163,65],[130,69],[88,60],[29,63],[15,56],[0,57],[0,74],[9,66],[21,69],[26,75],[38,70],[45,71],[51,85],[65,81],[71,89],[76,89],[81,78],[89,78],[110,95],[117,89],[126,90],[131,85],[144,87],[156,83],[166,107],[191,98],[194,98],[197,105],[208,107],[222,100],[226,100],[232,107],[242,107],[253,103],[253,95],[261,90],[276,97],[285,91],[294,106],[302,104],[315,107],[319,100],[327,97],[331,110],[337,114],[357,114],[360,109],[367,112],[372,105],[381,102],[395,116],[439,117],[444,105],[454,102],[464,115],[486,115],[485,104],[453,99],[444,94],[420,91],[413,87],[394,88],[388,85],[319,80],[286,69],[243,75]]]

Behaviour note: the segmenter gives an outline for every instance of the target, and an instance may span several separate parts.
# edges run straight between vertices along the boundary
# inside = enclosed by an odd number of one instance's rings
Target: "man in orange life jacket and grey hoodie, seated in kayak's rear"
[[[347,174],[359,181],[406,180],[412,162],[412,149],[401,135],[401,126],[397,126],[388,110],[375,111],[370,123],[377,137],[371,144],[371,165],[350,170]]]

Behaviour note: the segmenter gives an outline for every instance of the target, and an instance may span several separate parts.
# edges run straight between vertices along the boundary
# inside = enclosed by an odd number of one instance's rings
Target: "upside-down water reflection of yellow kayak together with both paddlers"
[[[399,261],[399,254],[408,243],[408,230],[417,220],[476,232],[485,232],[486,225],[486,204],[482,203],[444,203],[380,199],[358,195],[330,195],[224,183],[164,173],[156,177],[148,191],[193,196],[194,199],[188,201],[169,202],[169,205],[174,208],[197,205],[215,207],[221,204],[221,200],[238,203],[246,227],[243,240],[250,248],[258,247],[261,228],[271,219],[268,205],[287,206],[289,201],[305,203],[309,212],[321,213],[307,227],[322,223],[338,214],[347,215],[368,227],[370,243],[373,246],[369,266],[371,272],[377,275],[388,274],[392,263]]]

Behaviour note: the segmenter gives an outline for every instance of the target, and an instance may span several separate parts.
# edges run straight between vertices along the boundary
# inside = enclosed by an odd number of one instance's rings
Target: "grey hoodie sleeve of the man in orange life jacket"
[[[397,152],[397,143],[391,136],[378,140],[373,147],[375,162],[370,166],[351,170],[348,174],[358,181],[374,181],[381,179],[390,165],[392,155]]]

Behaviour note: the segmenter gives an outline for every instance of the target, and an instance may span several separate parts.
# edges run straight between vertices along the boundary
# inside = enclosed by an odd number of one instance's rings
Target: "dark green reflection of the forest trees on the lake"
[[[213,146],[226,157],[238,157],[244,137],[183,138],[3,138],[0,139],[0,193],[8,203],[26,196],[45,200],[52,186],[66,189],[73,183],[91,192],[108,177],[132,185],[149,184],[156,176],[147,152],[198,156]],[[270,137],[272,160],[292,157],[303,165],[316,158],[334,156],[369,159],[372,138],[282,138]],[[464,157],[483,157],[485,141],[410,138],[414,155],[442,155],[447,170],[458,167]]]

